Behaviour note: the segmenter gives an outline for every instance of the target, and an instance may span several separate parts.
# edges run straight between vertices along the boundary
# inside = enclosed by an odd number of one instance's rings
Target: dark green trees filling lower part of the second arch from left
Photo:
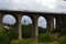
[[[31,35],[31,24],[29,24],[29,25],[23,24],[22,25],[22,35],[23,35],[23,37],[30,37],[30,35]]]

